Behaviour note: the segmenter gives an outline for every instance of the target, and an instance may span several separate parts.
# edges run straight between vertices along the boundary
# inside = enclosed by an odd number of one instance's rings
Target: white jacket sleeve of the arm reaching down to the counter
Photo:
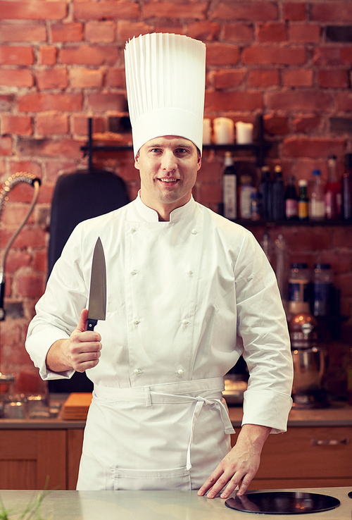
[[[292,406],[293,362],[287,318],[275,273],[263,249],[247,233],[235,264],[237,333],[249,369],[243,424],[287,429]]]

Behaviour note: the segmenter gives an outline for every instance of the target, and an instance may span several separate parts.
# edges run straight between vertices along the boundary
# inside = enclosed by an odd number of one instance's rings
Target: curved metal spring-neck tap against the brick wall
[[[0,190],[0,219],[1,219],[1,213],[4,209],[4,204],[8,201],[8,194],[11,192],[13,187],[20,184],[20,182],[27,182],[27,184],[30,184],[34,187],[34,195],[32,198],[32,202],[30,204],[30,209],[27,212],[27,215],[25,218],[23,218],[23,221],[18,226],[18,229],[13,233],[11,239],[8,241],[8,244],[5,247],[4,255],[2,258],[1,266],[0,266],[0,321],[4,320],[5,318],[5,311],[4,311],[4,295],[5,295],[5,264],[6,264],[6,258],[8,255],[8,251],[13,244],[13,241],[17,237],[18,233],[20,233],[20,230],[22,230],[23,226],[27,222],[28,218],[30,217],[30,214],[32,213],[34,206],[37,202],[38,194],[39,194],[39,186],[40,186],[40,179],[35,177],[32,173],[27,173],[26,171],[20,171],[18,173],[14,173],[11,175],[11,177],[6,180],[4,185],[2,185]]]

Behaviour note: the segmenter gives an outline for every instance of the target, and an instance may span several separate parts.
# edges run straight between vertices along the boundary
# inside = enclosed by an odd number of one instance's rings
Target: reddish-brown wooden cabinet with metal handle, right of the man
[[[232,435],[232,445],[237,435]],[[270,435],[250,489],[352,485],[352,427],[289,428]]]

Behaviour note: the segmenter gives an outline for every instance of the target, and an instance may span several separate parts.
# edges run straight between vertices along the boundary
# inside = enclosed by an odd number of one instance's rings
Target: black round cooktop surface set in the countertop
[[[249,492],[229,498],[225,505],[247,513],[303,514],[328,511],[340,505],[337,498],[298,491]]]

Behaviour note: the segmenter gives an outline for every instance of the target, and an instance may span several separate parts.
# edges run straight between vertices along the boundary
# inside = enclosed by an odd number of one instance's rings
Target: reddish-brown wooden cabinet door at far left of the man
[[[0,430],[0,489],[66,488],[65,430]]]

